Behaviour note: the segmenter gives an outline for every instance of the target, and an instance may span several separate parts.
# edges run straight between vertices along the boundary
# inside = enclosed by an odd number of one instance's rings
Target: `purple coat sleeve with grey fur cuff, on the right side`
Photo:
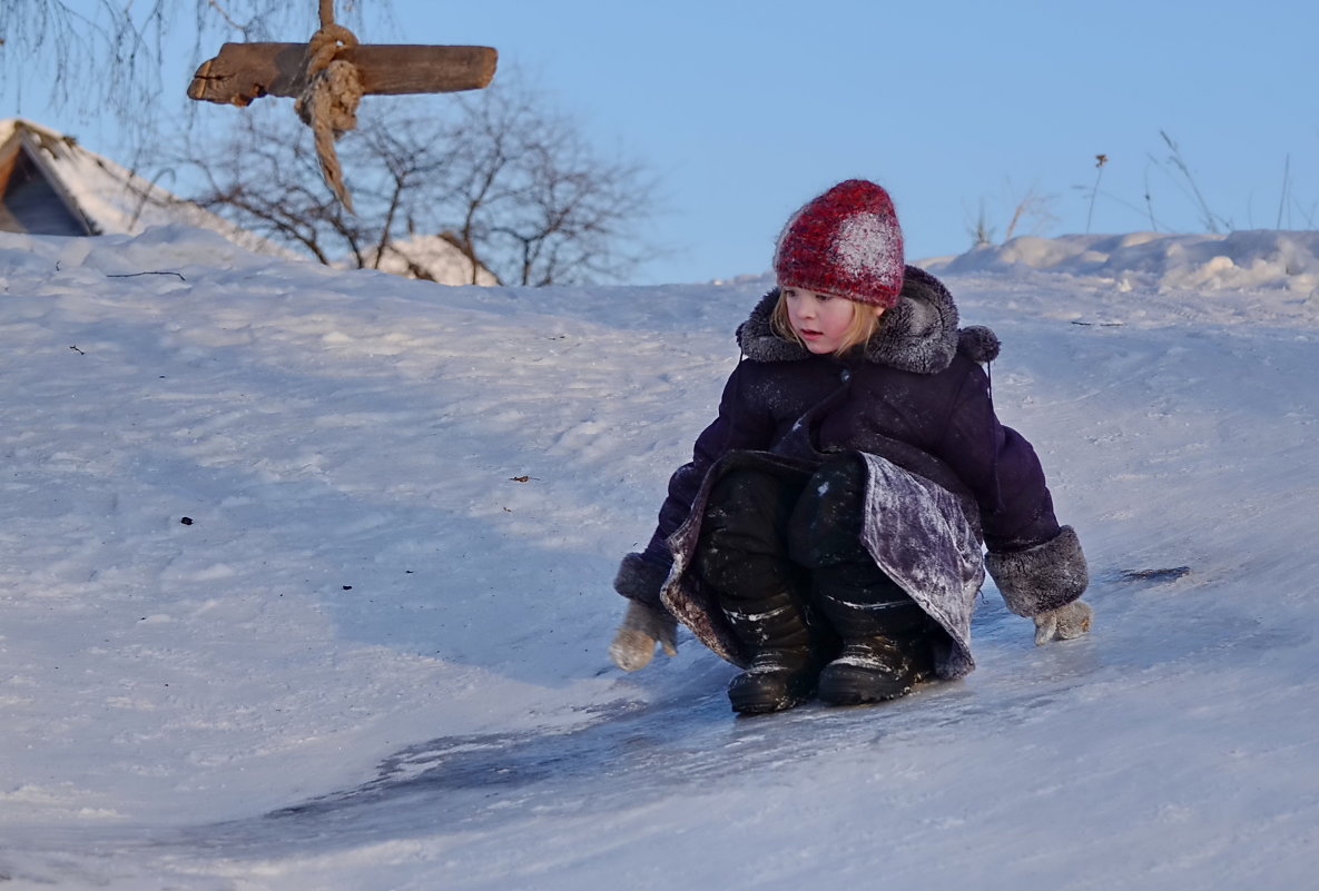
[[[1059,526],[1035,449],[998,422],[979,366],[948,417],[943,457],[972,490],[984,530],[985,568],[1018,616],[1038,616],[1080,597],[1089,583],[1080,539]]]

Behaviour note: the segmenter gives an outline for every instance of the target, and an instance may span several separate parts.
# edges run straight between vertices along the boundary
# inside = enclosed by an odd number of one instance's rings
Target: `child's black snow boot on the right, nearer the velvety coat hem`
[[[865,569],[878,573],[873,567]],[[917,681],[934,674],[931,619],[886,576],[882,581],[886,584],[872,581],[865,588],[843,585],[842,590],[816,585],[815,602],[843,639],[842,652],[820,672],[822,703],[882,703],[906,696]]]

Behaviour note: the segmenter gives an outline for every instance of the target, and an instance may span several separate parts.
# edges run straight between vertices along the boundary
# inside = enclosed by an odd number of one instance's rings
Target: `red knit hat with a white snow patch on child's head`
[[[848,179],[797,211],[774,249],[781,287],[892,307],[902,291],[902,229],[893,199]]]

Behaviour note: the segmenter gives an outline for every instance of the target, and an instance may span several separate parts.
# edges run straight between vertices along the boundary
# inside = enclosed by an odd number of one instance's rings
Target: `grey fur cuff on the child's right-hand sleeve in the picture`
[[[1086,592],[1089,572],[1080,539],[1071,526],[1043,544],[1012,554],[989,554],[985,568],[1017,616],[1039,616],[1064,606]]]

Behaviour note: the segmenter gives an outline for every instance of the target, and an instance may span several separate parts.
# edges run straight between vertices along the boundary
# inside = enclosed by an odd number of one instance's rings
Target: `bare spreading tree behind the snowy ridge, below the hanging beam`
[[[202,174],[195,199],[321,262],[425,265],[398,244],[441,237],[505,283],[621,281],[653,254],[637,236],[656,183],[630,159],[599,156],[582,129],[516,76],[433,101],[380,99],[339,144],[357,214],[324,187],[305,128],[280,109],[244,109],[228,140],[161,158]]]

